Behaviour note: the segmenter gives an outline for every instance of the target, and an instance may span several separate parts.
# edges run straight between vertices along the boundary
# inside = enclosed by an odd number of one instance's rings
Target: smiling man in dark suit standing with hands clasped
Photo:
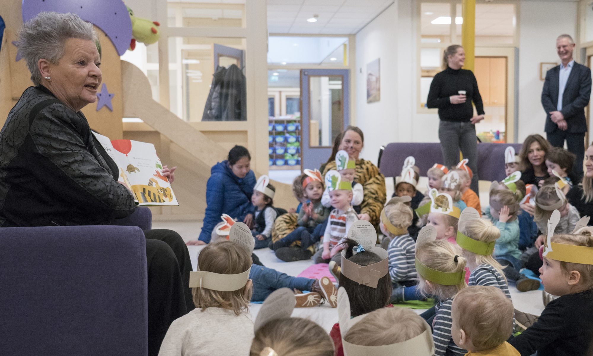
[[[556,39],[559,66],[546,73],[541,104],[546,110],[546,134],[554,147],[564,147],[576,155],[573,172],[583,176],[585,158],[585,106],[591,96],[591,69],[572,59],[575,42],[568,34]]]

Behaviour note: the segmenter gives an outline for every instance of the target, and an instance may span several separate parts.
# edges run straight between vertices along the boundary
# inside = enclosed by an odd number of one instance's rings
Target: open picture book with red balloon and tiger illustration
[[[138,205],[179,205],[153,144],[93,134],[117,164],[117,182],[132,191]]]

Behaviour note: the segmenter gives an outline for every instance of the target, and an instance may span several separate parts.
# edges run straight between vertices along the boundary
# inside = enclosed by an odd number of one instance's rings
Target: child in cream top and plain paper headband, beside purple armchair
[[[238,242],[218,240],[200,252],[197,267],[199,272],[190,275],[196,309],[171,324],[159,356],[248,354],[253,339],[247,309],[253,291],[250,254]]]

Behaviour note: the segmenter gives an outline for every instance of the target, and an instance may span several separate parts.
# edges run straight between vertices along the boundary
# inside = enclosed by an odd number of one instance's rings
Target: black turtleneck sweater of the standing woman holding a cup
[[[449,97],[459,95],[460,90],[466,91],[467,100],[463,104],[451,104]],[[428,92],[426,106],[438,108],[439,118],[443,121],[469,122],[474,116],[471,101],[476,105],[478,115],[484,115],[482,96],[473,72],[467,69],[451,69],[447,67],[435,75]]]

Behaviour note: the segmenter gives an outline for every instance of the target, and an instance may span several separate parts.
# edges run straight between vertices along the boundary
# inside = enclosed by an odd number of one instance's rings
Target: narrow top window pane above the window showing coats
[[[168,1],[167,16],[171,27],[245,27],[245,4]]]

